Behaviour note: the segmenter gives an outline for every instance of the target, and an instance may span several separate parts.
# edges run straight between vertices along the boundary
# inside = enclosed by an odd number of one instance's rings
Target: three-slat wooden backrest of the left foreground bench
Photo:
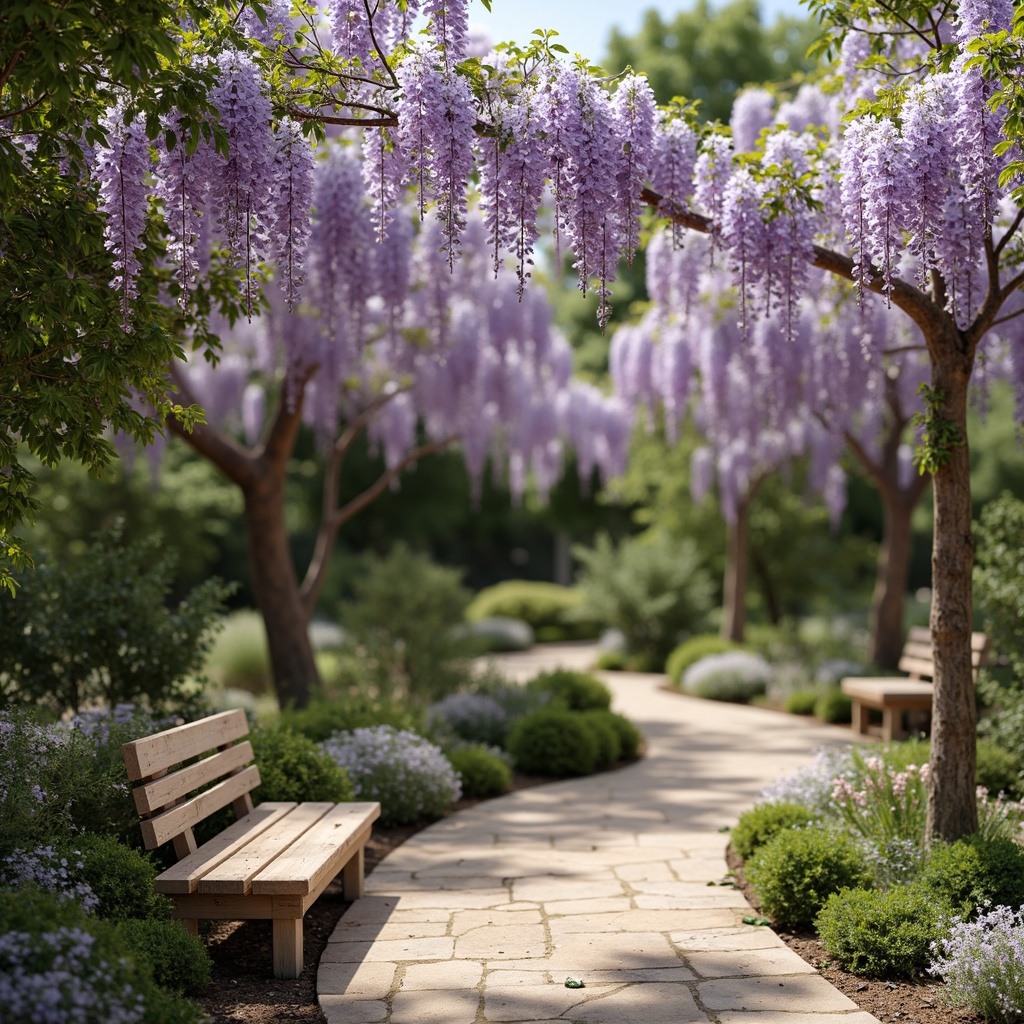
[[[248,734],[246,713],[236,710],[122,745],[147,850],[173,840],[184,857],[196,851],[194,825],[228,804],[240,817],[253,809],[259,769],[249,764],[252,743],[236,742]]]

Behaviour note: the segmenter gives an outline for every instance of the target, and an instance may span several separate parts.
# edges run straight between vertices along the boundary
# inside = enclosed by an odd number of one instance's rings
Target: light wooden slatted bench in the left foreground
[[[248,732],[245,712],[228,711],[125,743],[122,753],[145,848],[170,840],[179,858],[156,882],[173,915],[193,934],[201,920],[271,920],[273,973],[297,978],[302,918],[316,897],[339,871],[346,899],[362,895],[364,848],[380,804],[254,809],[260,778]],[[197,849],[193,826],[228,804],[238,819]]]

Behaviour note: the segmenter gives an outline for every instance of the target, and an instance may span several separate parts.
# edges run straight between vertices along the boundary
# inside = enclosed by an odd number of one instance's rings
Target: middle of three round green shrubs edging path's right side
[[[857,844],[817,827],[780,831],[746,862],[746,877],[765,913],[785,928],[810,925],[833,893],[871,884]]]

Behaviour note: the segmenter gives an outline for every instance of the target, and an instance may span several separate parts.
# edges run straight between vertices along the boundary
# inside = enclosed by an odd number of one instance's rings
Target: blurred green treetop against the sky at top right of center
[[[671,19],[648,10],[635,36],[612,30],[604,67],[611,74],[627,66],[640,68],[658,102],[674,96],[697,99],[701,118],[727,122],[741,86],[780,82],[811,70],[805,51],[814,32],[809,20],[787,17],[765,28],[753,0],[722,7],[699,0]]]

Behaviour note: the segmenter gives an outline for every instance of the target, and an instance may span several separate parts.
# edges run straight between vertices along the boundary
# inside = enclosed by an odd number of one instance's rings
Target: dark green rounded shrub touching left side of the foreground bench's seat
[[[146,854],[111,836],[90,833],[67,844],[69,859],[76,850],[83,864],[79,874],[99,899],[95,911],[98,916],[110,921],[170,921],[171,901],[154,888],[157,868]]]

